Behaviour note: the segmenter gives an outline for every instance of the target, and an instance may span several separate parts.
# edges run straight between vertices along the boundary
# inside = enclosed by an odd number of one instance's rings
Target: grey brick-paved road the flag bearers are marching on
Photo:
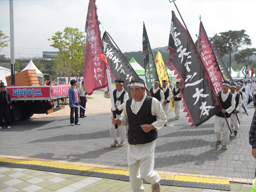
[[[103,98],[103,92],[99,95]],[[214,144],[214,118],[190,128],[186,126],[186,113],[181,113],[177,121],[174,112],[170,112],[168,126],[158,133],[155,169],[246,182],[253,179],[255,159],[251,155],[248,134],[254,110],[250,104],[249,116],[243,115],[239,134],[230,138],[226,151]],[[17,120],[12,129],[0,130],[0,155],[126,168],[127,145],[110,147],[109,116],[109,113],[88,115],[80,119],[80,126],[70,126],[68,117]]]

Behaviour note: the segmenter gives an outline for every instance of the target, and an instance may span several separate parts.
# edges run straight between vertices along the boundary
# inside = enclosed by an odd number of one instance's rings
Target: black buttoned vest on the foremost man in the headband
[[[150,143],[157,138],[156,130],[153,129],[145,133],[141,128],[143,124],[151,124],[156,121],[156,116],[151,113],[152,99],[147,95],[137,114],[134,114],[131,110],[132,98],[126,101],[126,113],[129,123],[127,136],[130,145]]]

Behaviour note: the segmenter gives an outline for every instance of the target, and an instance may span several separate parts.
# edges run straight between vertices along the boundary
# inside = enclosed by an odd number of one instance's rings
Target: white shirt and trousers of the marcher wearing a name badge
[[[114,92],[115,89],[113,89]],[[120,95],[123,93],[124,89],[122,89],[122,91],[118,92],[116,91],[116,97],[119,98]],[[108,93],[104,93],[104,98],[109,99],[110,98],[110,94]],[[129,95],[126,92],[124,94],[124,102],[122,104],[120,104],[119,106],[117,106],[118,110],[122,110],[124,108],[125,102],[129,99]],[[119,136],[120,136],[120,142],[123,143],[126,139],[126,131],[125,131],[125,127],[123,126],[119,126],[118,129],[115,129],[115,125],[112,124],[112,117],[113,117],[113,113],[110,113],[110,136],[113,138],[114,141],[117,140],[117,130],[119,130]],[[120,118],[121,115],[116,114],[116,118]]]

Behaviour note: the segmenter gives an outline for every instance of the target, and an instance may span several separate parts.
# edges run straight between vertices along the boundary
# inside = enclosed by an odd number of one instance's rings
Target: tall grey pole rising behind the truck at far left
[[[13,29],[13,0],[10,0],[10,52],[11,52],[11,85],[15,83],[15,55]]]

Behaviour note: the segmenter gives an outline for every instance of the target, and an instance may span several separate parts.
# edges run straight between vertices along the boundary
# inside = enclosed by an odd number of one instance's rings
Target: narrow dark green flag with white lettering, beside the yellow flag
[[[150,47],[150,43],[147,36],[147,31],[145,24],[143,22],[143,36],[142,36],[142,51],[143,51],[143,61],[145,69],[145,79],[147,88],[150,89],[154,87],[155,80],[159,81],[153,53]]]

